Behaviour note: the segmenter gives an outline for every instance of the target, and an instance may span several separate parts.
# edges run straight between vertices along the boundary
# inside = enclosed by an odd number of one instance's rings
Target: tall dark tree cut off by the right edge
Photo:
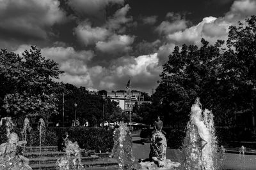
[[[250,110],[256,115],[256,16],[230,26],[227,45],[230,48],[223,57],[223,76],[230,87],[229,95],[236,110]],[[235,50],[234,50],[235,49]]]

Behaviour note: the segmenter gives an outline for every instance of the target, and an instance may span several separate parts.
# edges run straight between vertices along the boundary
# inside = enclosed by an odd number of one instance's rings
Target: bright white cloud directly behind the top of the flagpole
[[[108,76],[102,79],[104,83],[101,84],[109,84],[113,90],[125,89],[125,83],[131,77],[132,89],[150,90],[152,86],[157,85],[161,71],[157,53],[138,57],[121,57],[113,61],[109,67]],[[102,89],[104,89],[103,86]]]

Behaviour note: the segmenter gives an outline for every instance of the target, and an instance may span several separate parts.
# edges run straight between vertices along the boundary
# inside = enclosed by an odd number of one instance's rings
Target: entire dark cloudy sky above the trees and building
[[[174,46],[227,39],[255,0],[0,0],[0,48],[31,45],[90,90],[156,89]]]

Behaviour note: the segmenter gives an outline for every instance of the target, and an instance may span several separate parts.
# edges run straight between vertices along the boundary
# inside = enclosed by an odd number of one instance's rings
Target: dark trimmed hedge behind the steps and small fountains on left
[[[16,128],[14,131],[22,140],[22,129]],[[47,127],[45,131],[45,140],[42,140],[42,146],[56,146],[62,142],[62,137],[68,132],[68,139],[72,142],[77,141],[80,148],[86,150],[95,150],[96,152],[111,152],[113,148],[113,132],[95,127]],[[5,143],[6,129],[0,127],[0,144]],[[27,134],[27,146],[39,146],[39,131],[34,128]]]

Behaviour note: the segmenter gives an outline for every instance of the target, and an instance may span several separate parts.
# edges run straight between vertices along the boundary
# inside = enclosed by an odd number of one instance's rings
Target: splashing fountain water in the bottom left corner
[[[6,131],[8,140],[0,145],[0,169],[28,169],[29,160],[20,155],[19,148],[26,145],[26,141],[19,141],[19,136],[13,131],[12,120],[9,120]]]

